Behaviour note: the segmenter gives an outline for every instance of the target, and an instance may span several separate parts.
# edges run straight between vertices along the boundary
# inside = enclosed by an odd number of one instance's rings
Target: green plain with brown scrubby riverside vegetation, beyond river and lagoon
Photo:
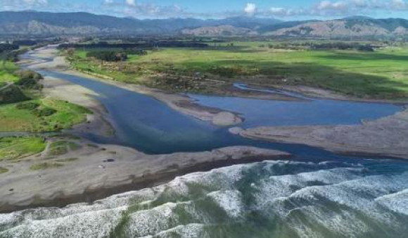
[[[222,93],[233,82],[305,85],[369,99],[408,97],[408,46],[389,42],[206,42],[205,48],[163,47],[103,61],[77,46],[77,70],[173,92]],[[110,44],[110,51],[121,52]],[[103,50],[105,51],[107,47]],[[92,52],[92,53],[91,53]]]

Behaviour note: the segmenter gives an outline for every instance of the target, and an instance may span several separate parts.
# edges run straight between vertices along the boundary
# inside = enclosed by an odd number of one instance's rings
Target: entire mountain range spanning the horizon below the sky
[[[135,19],[91,13],[0,12],[0,35],[264,35],[368,37],[408,35],[408,20],[362,16],[338,20],[286,21],[274,18]]]

